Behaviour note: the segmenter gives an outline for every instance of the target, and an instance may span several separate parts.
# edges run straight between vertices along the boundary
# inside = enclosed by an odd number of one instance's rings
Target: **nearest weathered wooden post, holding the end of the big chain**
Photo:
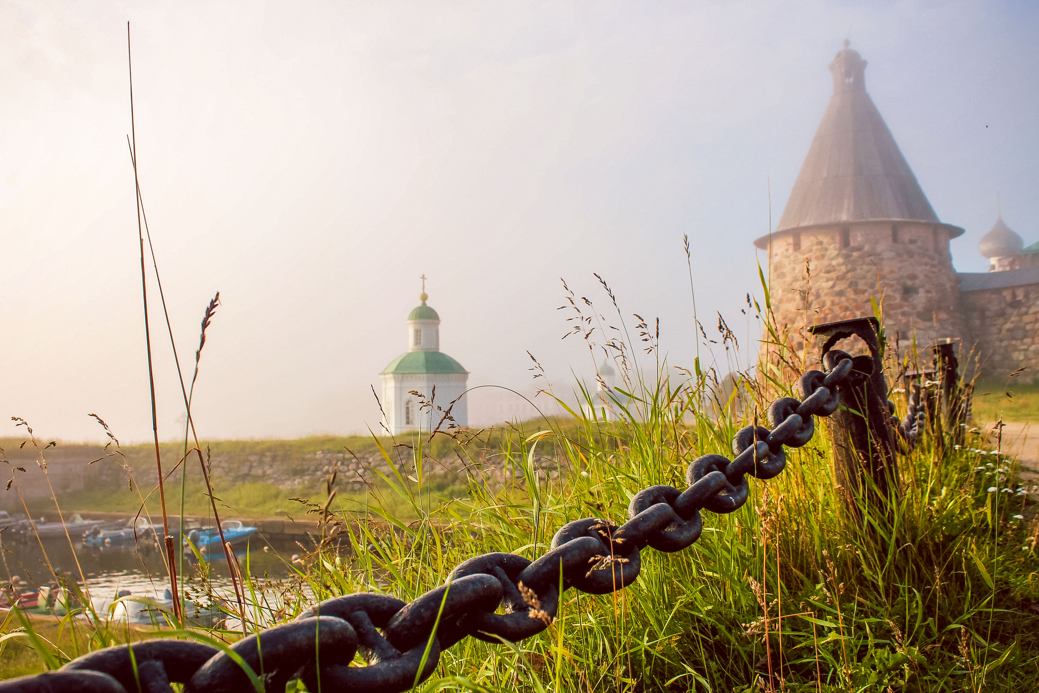
[[[830,417],[833,465],[845,506],[855,514],[859,509],[886,508],[898,492],[898,460],[895,429],[887,402],[880,343],[875,318],[855,318],[809,327],[820,343],[820,357],[829,368],[848,354],[833,346],[849,337],[858,337],[870,355],[852,358],[852,374],[840,385],[841,408]]]

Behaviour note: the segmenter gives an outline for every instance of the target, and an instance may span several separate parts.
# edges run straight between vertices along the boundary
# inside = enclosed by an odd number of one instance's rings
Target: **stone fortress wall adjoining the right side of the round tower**
[[[983,375],[1005,378],[1019,368],[1023,382],[1039,376],[1039,284],[960,294]]]

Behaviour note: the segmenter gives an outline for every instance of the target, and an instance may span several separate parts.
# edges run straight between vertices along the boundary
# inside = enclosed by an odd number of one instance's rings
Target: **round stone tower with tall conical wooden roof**
[[[963,337],[949,241],[942,223],[865,91],[865,60],[848,48],[830,63],[833,96],[776,230],[754,245],[768,251],[780,328],[798,350],[805,327],[873,315],[883,297],[885,328],[901,347]],[[810,270],[810,272],[809,272]]]

